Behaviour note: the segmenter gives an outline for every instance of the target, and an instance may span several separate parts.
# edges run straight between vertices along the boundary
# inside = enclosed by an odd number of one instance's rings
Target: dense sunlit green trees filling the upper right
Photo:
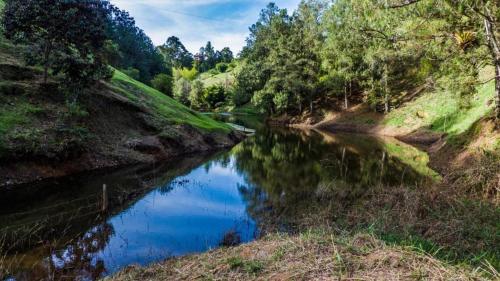
[[[250,27],[235,98],[251,99],[270,114],[361,101],[389,112],[412,92],[435,87],[460,98],[484,82],[479,73],[486,66],[500,77],[498,6],[486,0],[304,0],[289,14],[271,3]]]

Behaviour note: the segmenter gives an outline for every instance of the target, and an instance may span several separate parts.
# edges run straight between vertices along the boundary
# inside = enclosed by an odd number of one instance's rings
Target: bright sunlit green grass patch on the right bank
[[[466,133],[494,107],[494,82],[477,88],[477,93],[459,98],[449,91],[426,93],[389,113],[384,124],[393,127],[428,128],[450,137]]]

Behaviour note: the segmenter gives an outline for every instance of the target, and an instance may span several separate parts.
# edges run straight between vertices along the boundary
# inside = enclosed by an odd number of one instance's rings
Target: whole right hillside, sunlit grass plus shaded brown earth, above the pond
[[[481,76],[481,81],[487,81],[493,74],[485,70]],[[373,112],[366,104],[349,111],[328,111],[318,127],[388,136],[444,134],[452,142],[463,142],[473,138],[466,135],[473,133],[479,121],[492,116],[494,87],[494,81],[479,84],[475,93],[466,96],[447,89],[427,90],[387,115]]]

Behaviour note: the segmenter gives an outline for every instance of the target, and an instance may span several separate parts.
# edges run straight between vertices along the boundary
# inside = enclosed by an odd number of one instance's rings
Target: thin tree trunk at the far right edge
[[[487,11],[489,14],[489,11]],[[489,15],[491,18],[491,15]],[[495,35],[495,25],[489,19],[484,19],[484,26],[486,29],[486,38],[488,40],[488,47],[493,58],[493,65],[495,66],[495,119],[497,127],[500,127],[500,46],[498,38]]]

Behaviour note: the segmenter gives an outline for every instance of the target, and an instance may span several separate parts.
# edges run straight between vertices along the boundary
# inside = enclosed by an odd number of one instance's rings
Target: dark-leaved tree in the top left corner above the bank
[[[72,88],[109,75],[105,64],[108,3],[100,0],[8,0],[5,35],[28,46],[27,62],[63,74]]]

